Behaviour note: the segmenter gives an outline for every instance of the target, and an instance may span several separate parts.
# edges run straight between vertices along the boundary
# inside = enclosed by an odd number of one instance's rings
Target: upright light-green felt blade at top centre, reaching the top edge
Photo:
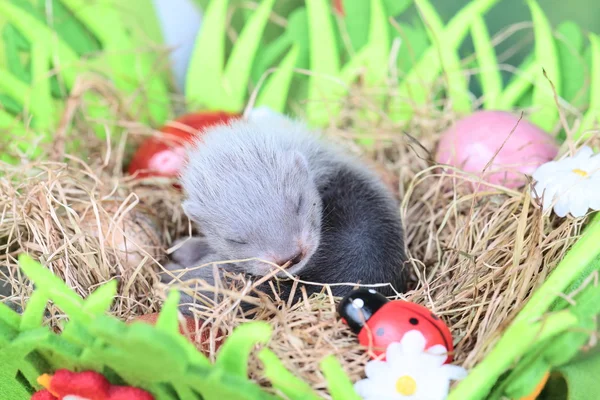
[[[337,115],[345,89],[336,79],[340,59],[327,0],[306,0],[310,39],[310,70],[306,114],[311,124],[321,126]]]

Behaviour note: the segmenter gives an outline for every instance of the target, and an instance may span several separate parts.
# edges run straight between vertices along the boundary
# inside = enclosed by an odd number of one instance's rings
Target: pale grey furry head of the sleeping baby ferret
[[[181,181],[185,212],[223,261],[258,258],[294,274],[319,245],[322,206],[306,156],[285,140],[294,133],[285,131],[291,121],[282,122],[207,130],[189,151]],[[255,275],[274,268],[261,261],[242,267]]]

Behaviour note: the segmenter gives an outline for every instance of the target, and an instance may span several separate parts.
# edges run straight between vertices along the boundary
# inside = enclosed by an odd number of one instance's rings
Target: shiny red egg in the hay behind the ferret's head
[[[138,178],[148,176],[177,177],[185,162],[184,146],[202,130],[239,118],[221,111],[185,114],[161,128],[161,137],[145,140],[137,149],[128,172]]]

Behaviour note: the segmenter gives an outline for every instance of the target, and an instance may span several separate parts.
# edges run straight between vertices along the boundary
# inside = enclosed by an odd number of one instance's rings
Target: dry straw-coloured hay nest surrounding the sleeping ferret
[[[401,298],[440,315],[452,330],[456,362],[471,368],[577,240],[582,221],[542,216],[528,188],[470,194],[462,190],[470,178],[436,169],[429,151],[452,115],[428,112],[430,117],[415,119],[407,135],[385,118],[377,126],[353,119],[355,107],[347,104],[326,134],[392,174],[414,278],[413,289]],[[172,182],[140,181],[122,172],[124,141],[136,142],[140,131],[151,132],[131,122],[120,129],[125,139],[118,142],[86,137],[87,161],[68,156],[66,161],[0,165],[0,281],[8,284],[3,301],[23,307],[31,294],[16,261],[27,252],[82,296],[118,279],[112,312],[124,320],[160,310],[167,289],[158,278],[161,264],[173,240],[192,228]],[[378,143],[369,153],[351,144],[365,131]],[[230,294],[223,302],[203,298],[191,307],[204,321],[198,329],[213,328],[213,344],[218,329],[230,332],[248,320],[237,305],[251,283],[236,279],[235,287],[217,289]],[[337,319],[336,299],[326,288],[291,308],[286,299],[262,300],[253,318],[272,323],[270,347],[294,374],[324,389],[318,363],[335,354],[351,378],[362,377],[368,355]],[[58,328],[60,318],[59,310],[49,310],[51,325]],[[253,361],[250,371],[258,380],[260,368]]]

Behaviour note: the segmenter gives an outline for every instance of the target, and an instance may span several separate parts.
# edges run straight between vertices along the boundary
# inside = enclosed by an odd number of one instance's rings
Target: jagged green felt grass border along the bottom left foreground
[[[155,326],[125,324],[105,314],[116,281],[110,281],[79,300],[78,296],[27,255],[19,257],[23,272],[35,284],[34,295],[20,316],[0,304],[0,383],[2,394],[27,393],[42,373],[56,369],[93,370],[113,384],[132,385],[150,391],[157,400],[277,400],[247,376],[248,359],[257,344],[265,344],[272,328],[265,322],[238,326],[225,340],[217,362],[211,365],[177,332],[178,294],[172,292]],[[55,279],[52,279],[55,278]],[[59,279],[58,279],[59,280]],[[59,280],[60,281],[60,280]],[[62,333],[39,327],[46,300],[66,312]],[[29,308],[31,307],[31,309]],[[62,310],[65,311],[65,310]],[[165,329],[166,328],[166,329]],[[293,376],[269,350],[260,353],[265,376],[290,399],[319,398],[307,383]],[[203,360],[203,361],[198,361]],[[354,400],[352,383],[331,356],[321,364],[333,400]],[[24,377],[16,380],[17,371]],[[23,391],[20,391],[23,389]],[[25,397],[24,400],[26,400]]]

